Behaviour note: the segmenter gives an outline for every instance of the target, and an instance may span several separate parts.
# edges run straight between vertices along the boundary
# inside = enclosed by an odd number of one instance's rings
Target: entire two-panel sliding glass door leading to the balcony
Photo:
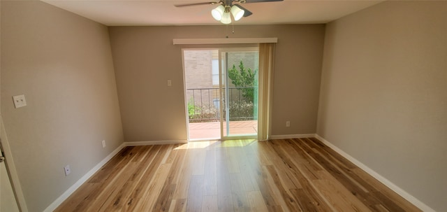
[[[258,48],[183,50],[189,140],[256,138]]]

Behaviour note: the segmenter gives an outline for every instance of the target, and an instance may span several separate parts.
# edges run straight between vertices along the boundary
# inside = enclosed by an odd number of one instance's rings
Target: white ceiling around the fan
[[[207,0],[133,1],[133,0],[41,0],[64,10],[108,26],[215,25],[211,16],[216,5],[177,8],[179,3]],[[216,0],[218,1],[218,0]],[[373,6],[380,1],[301,1],[245,3],[253,15],[234,24],[313,24],[327,23],[339,17]]]

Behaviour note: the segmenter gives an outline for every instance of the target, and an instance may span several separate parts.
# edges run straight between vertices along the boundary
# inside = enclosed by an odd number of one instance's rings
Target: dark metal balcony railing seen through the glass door
[[[256,87],[229,87],[223,98],[223,117],[228,99],[230,121],[256,120]],[[220,120],[219,88],[195,88],[186,90],[189,122],[218,122]]]

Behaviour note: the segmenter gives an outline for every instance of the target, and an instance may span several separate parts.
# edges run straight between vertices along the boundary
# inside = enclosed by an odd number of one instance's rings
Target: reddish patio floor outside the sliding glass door
[[[223,123],[223,133],[226,134],[226,125]],[[257,134],[258,121],[230,122],[230,134]],[[189,123],[189,139],[220,139],[220,122]]]

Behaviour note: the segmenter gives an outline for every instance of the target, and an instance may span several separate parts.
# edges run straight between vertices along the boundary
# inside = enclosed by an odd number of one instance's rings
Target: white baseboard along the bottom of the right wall
[[[410,195],[408,192],[406,192],[402,188],[398,187],[397,185],[395,185],[391,181],[388,181],[387,178],[381,176],[376,171],[374,171],[371,168],[367,167],[367,165],[362,164],[362,162],[356,160],[356,158],[352,157],[348,153],[345,153],[343,150],[339,149],[337,146],[333,145],[329,141],[326,141],[323,137],[318,136],[318,134],[315,134],[315,138],[320,140],[321,142],[323,142],[325,145],[329,146],[330,148],[332,148],[332,150],[335,150],[335,152],[339,153],[340,155],[345,157],[347,160],[351,161],[353,164],[356,164],[357,167],[359,167],[363,171],[366,171],[367,174],[369,174],[372,177],[376,178],[376,180],[378,180],[381,183],[383,183],[384,185],[386,185],[388,188],[390,188],[391,190],[396,192],[401,197],[404,197],[404,199],[406,199],[407,201],[411,202],[411,204],[417,206],[422,211],[425,211],[425,212],[436,212],[432,208],[430,208],[430,206],[427,206],[423,202],[420,202],[419,199],[416,199],[416,197],[413,197],[412,195]]]

